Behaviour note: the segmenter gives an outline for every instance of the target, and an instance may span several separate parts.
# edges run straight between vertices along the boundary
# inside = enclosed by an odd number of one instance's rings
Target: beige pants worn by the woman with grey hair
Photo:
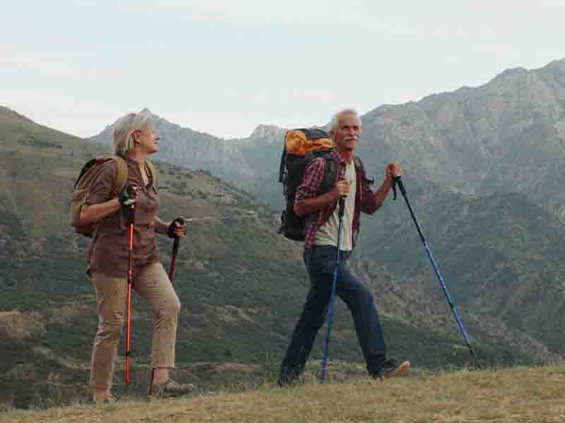
[[[126,313],[127,280],[98,272],[91,276],[97,300],[98,330],[94,339],[90,386],[112,386],[114,363]],[[181,303],[159,262],[133,275],[133,290],[153,307],[153,368],[174,368],[174,346]]]

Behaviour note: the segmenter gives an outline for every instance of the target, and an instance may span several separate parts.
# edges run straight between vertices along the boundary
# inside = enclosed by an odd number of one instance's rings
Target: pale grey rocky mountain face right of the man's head
[[[561,214],[565,61],[510,69],[486,85],[381,106],[362,116],[369,168],[396,159],[407,176],[479,195],[518,191]],[[559,180],[559,183],[556,183]]]

